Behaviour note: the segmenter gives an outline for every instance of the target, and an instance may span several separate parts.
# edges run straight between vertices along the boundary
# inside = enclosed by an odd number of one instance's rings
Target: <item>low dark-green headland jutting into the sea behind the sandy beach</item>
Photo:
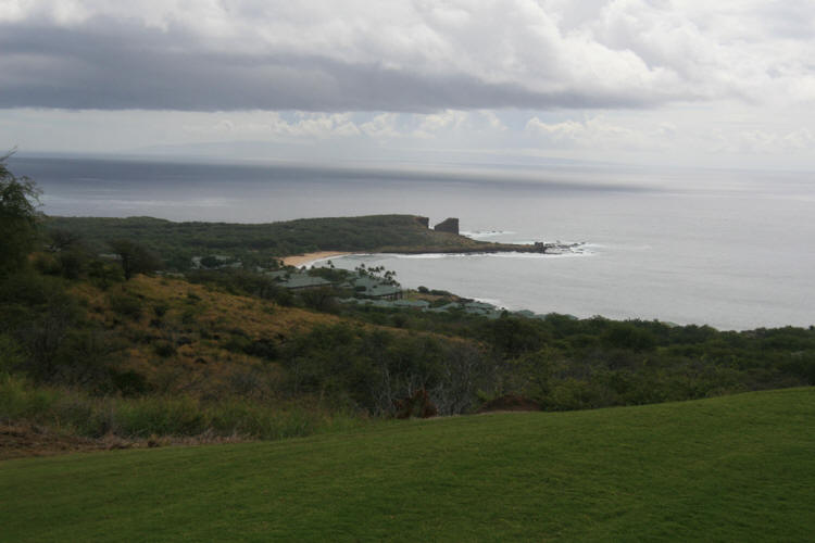
[[[174,223],[152,217],[49,217],[48,231],[79,236],[95,252],[128,239],[184,269],[192,256],[218,254],[264,264],[271,257],[313,251],[440,252],[512,247],[427,228],[414,215],[302,218],[268,224]]]

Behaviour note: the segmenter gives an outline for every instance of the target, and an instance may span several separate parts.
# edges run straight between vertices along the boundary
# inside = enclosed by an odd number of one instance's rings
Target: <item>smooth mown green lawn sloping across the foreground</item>
[[[0,463],[2,541],[812,541],[815,389]]]

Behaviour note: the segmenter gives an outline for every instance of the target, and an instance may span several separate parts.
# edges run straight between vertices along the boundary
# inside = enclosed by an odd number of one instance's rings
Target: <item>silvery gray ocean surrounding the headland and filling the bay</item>
[[[815,176],[616,166],[300,167],[13,157],[42,211],[260,223],[411,213],[580,254],[353,255],[510,310],[720,329],[815,325]]]

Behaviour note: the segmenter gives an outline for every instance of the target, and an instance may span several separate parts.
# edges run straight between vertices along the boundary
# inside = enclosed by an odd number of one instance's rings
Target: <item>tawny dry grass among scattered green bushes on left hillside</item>
[[[185,371],[187,379],[178,386],[188,392],[206,391],[217,394],[218,387],[229,380],[233,372],[263,365],[256,356],[229,351],[230,340],[266,340],[278,346],[297,333],[304,333],[321,325],[346,323],[368,329],[381,328],[403,334],[405,330],[360,324],[325,313],[297,307],[284,307],[268,300],[228,294],[201,285],[179,279],[137,276],[126,283],[101,291],[88,283],[78,283],[74,292],[89,307],[89,316],[102,328],[117,331],[126,340],[126,350],[120,354],[122,366],[134,369],[154,381],[156,372]],[[141,315],[128,318],[111,308],[110,296],[127,293],[141,304]],[[166,313],[160,326],[150,324],[155,315],[152,307],[164,305]],[[189,318],[185,318],[185,315]],[[431,334],[430,332],[416,332]],[[175,343],[184,338],[187,344],[165,357],[153,352],[156,341]],[[449,340],[448,341],[453,341]],[[464,341],[464,340],[454,340]],[[196,361],[205,361],[205,364]],[[198,381],[191,387],[190,382]]]

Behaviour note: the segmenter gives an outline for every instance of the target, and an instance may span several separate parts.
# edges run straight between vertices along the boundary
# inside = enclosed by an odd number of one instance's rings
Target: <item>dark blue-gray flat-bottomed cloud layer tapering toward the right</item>
[[[654,102],[627,89],[490,81],[454,64],[421,72],[318,52],[213,51],[184,33],[113,21],[79,28],[3,25],[0,50],[0,108],[418,112]]]

